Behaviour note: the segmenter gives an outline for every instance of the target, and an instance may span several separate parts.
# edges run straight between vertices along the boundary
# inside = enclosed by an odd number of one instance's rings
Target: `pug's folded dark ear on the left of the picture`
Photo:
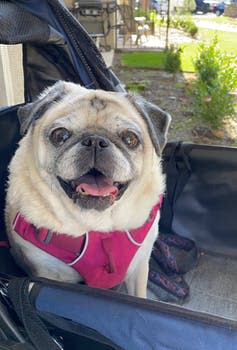
[[[39,119],[54,102],[60,101],[65,94],[65,83],[63,81],[58,81],[50,88],[43,91],[35,101],[20,107],[18,109],[18,119],[20,122],[21,135],[24,135],[29,127]]]

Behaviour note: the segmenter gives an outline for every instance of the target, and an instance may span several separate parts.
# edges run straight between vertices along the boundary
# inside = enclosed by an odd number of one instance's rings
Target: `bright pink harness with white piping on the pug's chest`
[[[13,229],[23,239],[73,267],[91,287],[112,288],[120,284],[129,264],[147,236],[162,204],[162,197],[146,222],[131,231],[90,231],[80,237],[37,229],[20,213]]]

